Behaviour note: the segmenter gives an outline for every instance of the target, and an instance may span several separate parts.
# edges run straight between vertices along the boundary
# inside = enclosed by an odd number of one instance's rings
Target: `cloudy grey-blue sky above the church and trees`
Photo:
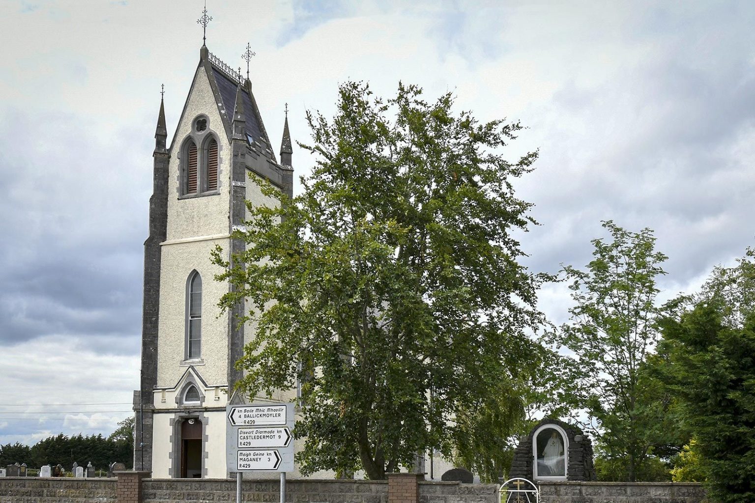
[[[142,244],[160,84],[172,133],[199,59],[201,0],[0,0],[0,443],[109,434],[138,386]],[[207,44],[279,146],[337,84],[447,90],[529,127],[517,182],[535,271],[584,265],[600,221],[649,227],[665,296],[755,244],[751,2],[209,0]],[[294,168],[313,159],[294,147]],[[297,189],[297,188],[296,188]],[[294,189],[294,190],[296,190]],[[541,293],[563,321],[568,296]],[[57,404],[57,405],[54,405]]]

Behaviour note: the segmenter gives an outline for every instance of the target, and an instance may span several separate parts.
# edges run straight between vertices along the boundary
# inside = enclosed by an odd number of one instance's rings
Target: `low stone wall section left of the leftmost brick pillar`
[[[0,477],[0,503],[116,503],[111,479]]]

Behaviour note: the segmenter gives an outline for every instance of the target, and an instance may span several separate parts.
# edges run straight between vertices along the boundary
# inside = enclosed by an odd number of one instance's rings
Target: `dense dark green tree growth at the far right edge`
[[[680,403],[681,426],[695,436],[713,501],[755,501],[755,253],[716,267],[680,317],[668,317],[661,376]]]

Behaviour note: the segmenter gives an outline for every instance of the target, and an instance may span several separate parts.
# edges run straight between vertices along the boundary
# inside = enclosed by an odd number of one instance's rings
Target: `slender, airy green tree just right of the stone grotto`
[[[569,349],[572,403],[588,416],[575,419],[597,437],[597,465],[610,467],[607,478],[634,481],[657,471],[649,455],[667,431],[670,395],[644,372],[659,338],[656,281],[667,257],[647,228],[602,225],[611,239],[592,241],[587,268],[563,268],[575,303],[555,340]]]

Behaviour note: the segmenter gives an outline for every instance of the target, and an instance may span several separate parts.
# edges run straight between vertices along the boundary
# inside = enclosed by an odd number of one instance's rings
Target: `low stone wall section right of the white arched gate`
[[[704,503],[701,484],[690,482],[544,482],[541,503]]]

